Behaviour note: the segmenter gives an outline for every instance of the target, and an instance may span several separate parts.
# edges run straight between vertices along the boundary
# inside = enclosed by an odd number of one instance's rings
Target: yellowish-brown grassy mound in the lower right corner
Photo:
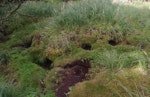
[[[93,80],[78,83],[69,97],[148,97],[149,80],[135,68],[116,73],[101,69]]]

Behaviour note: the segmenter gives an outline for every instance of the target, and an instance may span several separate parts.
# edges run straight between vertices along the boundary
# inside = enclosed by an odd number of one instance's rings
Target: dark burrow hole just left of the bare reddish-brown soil
[[[49,60],[48,58],[45,58],[43,62],[35,62],[36,64],[38,64],[39,66],[41,66],[44,69],[51,69],[51,64],[53,63],[52,60]]]

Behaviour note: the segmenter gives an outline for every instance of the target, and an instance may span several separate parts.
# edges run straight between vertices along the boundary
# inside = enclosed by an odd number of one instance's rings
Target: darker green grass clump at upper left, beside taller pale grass
[[[59,8],[57,3],[29,1],[23,4],[19,12],[29,16],[48,17],[55,15],[57,8]]]

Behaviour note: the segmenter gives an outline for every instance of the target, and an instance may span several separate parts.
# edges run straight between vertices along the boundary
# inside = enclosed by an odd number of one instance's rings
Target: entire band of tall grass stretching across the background
[[[141,31],[146,33],[150,28],[148,8],[112,4],[111,0],[81,0],[68,3],[29,1],[25,2],[18,12],[29,16],[28,18],[32,17],[32,22],[34,18],[36,21],[44,17],[51,17],[48,20],[51,30],[81,26],[93,29],[94,25],[100,25],[96,29],[128,35]],[[20,18],[18,17],[17,21],[12,19],[12,22],[17,22],[17,25],[26,22]]]

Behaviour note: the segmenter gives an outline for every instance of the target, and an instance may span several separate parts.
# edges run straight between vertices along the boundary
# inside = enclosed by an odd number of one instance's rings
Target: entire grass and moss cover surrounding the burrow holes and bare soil
[[[18,97],[55,97],[51,81],[59,81],[56,68],[88,59],[89,81],[75,86],[69,97],[149,95],[145,72],[150,55],[150,9],[143,6],[148,5],[112,4],[110,0],[25,2],[18,10],[23,16],[16,13],[6,22],[10,25],[8,31],[13,33],[9,40],[0,43],[0,51],[6,50],[11,59],[0,72],[0,82],[16,79]],[[30,40],[31,47],[13,47]],[[109,40],[120,43],[112,46]],[[122,41],[131,44],[121,44]],[[89,43],[91,50],[83,49],[84,43]],[[53,61],[52,70],[36,64],[44,58]],[[133,69],[136,67],[142,69]],[[134,73],[136,70],[143,71],[142,75]],[[5,76],[6,72],[10,74]],[[46,95],[41,93],[40,80],[46,82]]]

